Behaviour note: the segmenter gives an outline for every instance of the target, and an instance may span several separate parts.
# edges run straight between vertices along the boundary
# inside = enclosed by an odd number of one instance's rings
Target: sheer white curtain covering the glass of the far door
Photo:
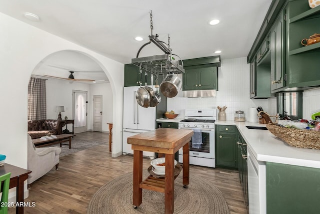
[[[85,93],[74,93],[74,127],[86,125]]]

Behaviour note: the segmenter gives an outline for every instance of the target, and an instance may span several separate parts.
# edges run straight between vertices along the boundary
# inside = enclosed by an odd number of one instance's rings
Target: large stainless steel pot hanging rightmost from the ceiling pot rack
[[[168,74],[160,84],[160,91],[166,97],[175,97],[181,89],[181,80],[178,76]]]

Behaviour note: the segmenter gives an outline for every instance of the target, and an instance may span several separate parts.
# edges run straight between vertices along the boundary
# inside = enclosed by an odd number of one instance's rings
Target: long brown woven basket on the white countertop
[[[266,128],[290,146],[320,149],[320,131],[286,128],[273,123],[266,124]]]

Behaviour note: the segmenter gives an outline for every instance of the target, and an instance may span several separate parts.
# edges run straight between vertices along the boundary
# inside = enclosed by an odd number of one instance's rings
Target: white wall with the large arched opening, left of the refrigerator
[[[0,153],[7,156],[6,162],[27,168],[27,85],[41,60],[63,50],[90,57],[110,80],[114,119],[112,156],[121,154],[124,65],[1,13],[0,28],[5,32],[0,34],[0,112],[5,121],[0,124]]]

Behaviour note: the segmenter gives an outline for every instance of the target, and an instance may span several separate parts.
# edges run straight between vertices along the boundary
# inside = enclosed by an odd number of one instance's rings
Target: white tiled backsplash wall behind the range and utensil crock
[[[275,113],[275,109],[270,108],[272,106],[269,106],[268,99],[250,99],[249,91],[250,67],[246,63],[246,58],[222,60],[221,67],[218,67],[216,97],[187,98],[182,97],[180,91],[176,97],[167,99],[167,110],[176,111],[180,114],[178,117],[183,117],[183,109],[216,109],[217,106],[227,106],[225,111],[227,120],[234,120],[234,112],[237,110],[244,111],[247,116],[249,107],[262,106],[264,111]]]

